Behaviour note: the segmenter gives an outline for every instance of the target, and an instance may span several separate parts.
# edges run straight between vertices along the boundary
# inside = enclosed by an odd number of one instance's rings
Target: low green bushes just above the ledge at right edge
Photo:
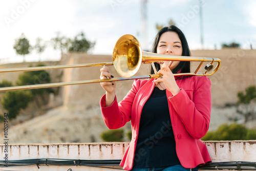
[[[202,140],[255,140],[256,130],[249,130],[238,123],[220,125],[217,131],[207,132]]]

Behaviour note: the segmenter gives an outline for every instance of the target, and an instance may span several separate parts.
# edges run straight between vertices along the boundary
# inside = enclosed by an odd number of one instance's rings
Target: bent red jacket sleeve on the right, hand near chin
[[[169,97],[190,136],[200,139],[209,129],[211,113],[210,80],[206,76],[198,77],[195,82],[193,99],[185,90]]]

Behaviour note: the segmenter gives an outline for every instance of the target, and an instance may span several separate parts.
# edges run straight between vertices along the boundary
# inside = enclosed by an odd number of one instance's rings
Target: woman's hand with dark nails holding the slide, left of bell
[[[100,79],[113,78],[108,67],[100,69]],[[100,82],[101,87],[106,91],[105,106],[110,106],[116,96],[116,82]]]

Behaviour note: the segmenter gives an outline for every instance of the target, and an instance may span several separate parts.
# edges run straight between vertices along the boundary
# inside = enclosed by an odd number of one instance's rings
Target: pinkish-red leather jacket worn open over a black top
[[[105,107],[105,95],[100,106],[103,120],[109,129],[118,129],[131,120],[132,140],[120,165],[123,169],[133,167],[136,142],[139,134],[140,115],[155,84],[149,80],[135,80],[133,88],[122,101]],[[176,81],[181,91],[173,96],[166,90],[170,119],[176,141],[178,158],[185,168],[211,162],[202,138],[208,131],[211,113],[210,80],[206,76],[192,76]],[[157,106],[156,106],[157,108]]]

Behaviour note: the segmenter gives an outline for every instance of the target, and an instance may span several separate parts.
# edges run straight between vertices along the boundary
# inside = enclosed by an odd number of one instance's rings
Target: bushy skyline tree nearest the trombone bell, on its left
[[[71,47],[69,52],[85,52],[87,53],[95,45],[95,42],[91,42],[86,39],[83,32],[75,36],[74,40],[71,41]]]

